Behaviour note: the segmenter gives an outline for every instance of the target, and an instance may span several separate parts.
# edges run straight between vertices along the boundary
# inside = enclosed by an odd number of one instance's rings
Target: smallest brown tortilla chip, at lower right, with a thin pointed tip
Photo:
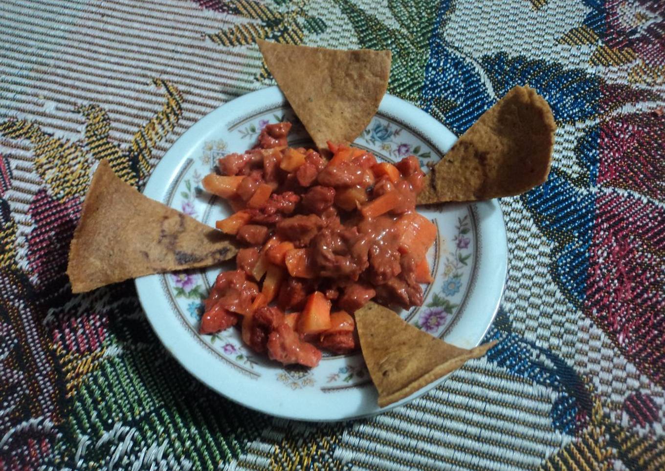
[[[362,356],[385,407],[479,358],[495,342],[471,350],[456,347],[407,324],[395,312],[368,302],[356,311]]]

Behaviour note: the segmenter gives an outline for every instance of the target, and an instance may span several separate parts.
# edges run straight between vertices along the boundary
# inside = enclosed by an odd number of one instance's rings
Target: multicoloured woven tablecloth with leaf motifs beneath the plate
[[[0,470],[665,468],[662,0],[2,0],[0,26]],[[458,135],[517,84],[557,121],[547,183],[501,200],[499,343],[372,419],[231,403],[132,281],[72,296],[65,275],[96,162],[142,187],[199,118],[274,84],[264,37],[390,48],[388,92]]]

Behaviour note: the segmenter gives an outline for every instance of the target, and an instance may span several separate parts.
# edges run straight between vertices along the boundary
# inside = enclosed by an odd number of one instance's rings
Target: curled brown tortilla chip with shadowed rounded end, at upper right
[[[512,88],[434,165],[418,204],[529,191],[547,179],[556,129],[549,105],[533,88]]]

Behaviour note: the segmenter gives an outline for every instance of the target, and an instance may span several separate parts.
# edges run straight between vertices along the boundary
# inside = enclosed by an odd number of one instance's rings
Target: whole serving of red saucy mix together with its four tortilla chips
[[[516,86],[426,174],[412,155],[393,164],[350,145],[386,92],[390,51],[259,48],[315,147],[288,147],[282,122],[219,159],[203,187],[233,214],[217,230],[144,197],[100,161],[70,245],[72,292],[235,256],[199,332],[238,326],[251,349],[285,365],[315,367],[321,349],[360,347],[380,406],[484,355],[492,343],[450,345],[386,306],[422,304],[421,284],[432,281],[426,252],[438,229],[416,205],[517,195],[547,179],[556,128],[547,102]]]

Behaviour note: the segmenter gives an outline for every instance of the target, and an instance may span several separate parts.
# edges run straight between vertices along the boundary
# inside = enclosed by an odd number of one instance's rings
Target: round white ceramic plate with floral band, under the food
[[[231,210],[201,191],[201,179],[217,158],[255,144],[262,126],[293,123],[291,145],[309,141],[279,88],[241,96],[194,124],[150,176],[144,194],[214,226]],[[378,158],[397,161],[411,153],[425,165],[438,161],[456,137],[415,106],[386,95],[378,113],[354,145]],[[450,343],[478,345],[497,312],[507,267],[503,215],[497,201],[419,209],[439,235],[428,254],[434,283],[421,307],[403,311],[408,322]],[[222,269],[233,268],[230,262]],[[201,299],[220,267],[158,274],[136,280],[148,320],[168,351],[200,381],[242,405],[305,421],[338,421],[392,409],[426,393],[380,409],[362,355],[324,357],[318,367],[282,367],[247,349],[235,328],[200,335]]]

